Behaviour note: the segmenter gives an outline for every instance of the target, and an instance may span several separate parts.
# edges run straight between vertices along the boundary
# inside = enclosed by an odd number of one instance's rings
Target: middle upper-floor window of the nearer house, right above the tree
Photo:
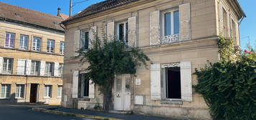
[[[128,22],[121,22],[117,25],[118,29],[118,40],[125,42],[125,44],[128,44]]]

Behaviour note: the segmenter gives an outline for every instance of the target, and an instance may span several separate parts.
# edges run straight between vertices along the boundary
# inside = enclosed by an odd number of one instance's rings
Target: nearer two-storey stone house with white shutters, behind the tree
[[[210,119],[209,109],[192,85],[194,69],[219,61],[220,34],[240,46],[239,24],[245,17],[236,0],[107,0],[63,21],[65,69],[62,106],[93,109],[103,105],[98,86],[85,82],[85,68],[75,58],[90,48],[93,32],[115,35],[139,47],[151,59],[149,69],[117,76],[114,110],[174,118]]]

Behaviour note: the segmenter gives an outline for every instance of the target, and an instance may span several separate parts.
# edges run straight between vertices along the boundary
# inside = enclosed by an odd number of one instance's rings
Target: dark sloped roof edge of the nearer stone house
[[[65,24],[69,21],[73,21],[75,19],[80,19],[80,18],[85,17],[85,16],[90,16],[90,15],[93,15],[93,14],[97,14],[101,11],[106,11],[106,10],[109,10],[109,9],[113,9],[115,7],[118,7],[118,6],[123,6],[125,4],[131,4],[134,1],[139,1],[139,0],[105,0],[105,1],[102,1],[98,4],[93,4],[91,6],[88,6],[86,9],[84,9],[80,13],[70,17],[69,19],[67,19],[65,21],[62,21],[62,24]]]

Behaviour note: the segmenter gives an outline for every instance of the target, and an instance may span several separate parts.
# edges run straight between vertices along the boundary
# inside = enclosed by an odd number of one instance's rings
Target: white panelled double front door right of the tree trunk
[[[119,75],[115,78],[114,110],[130,111],[131,108],[131,75]]]

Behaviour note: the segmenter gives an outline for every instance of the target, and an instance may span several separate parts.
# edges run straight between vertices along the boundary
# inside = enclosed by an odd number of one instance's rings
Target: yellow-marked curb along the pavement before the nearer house
[[[69,113],[69,112],[65,112],[65,111],[54,111],[54,110],[50,110],[49,108],[48,109],[32,108],[32,111],[41,111],[41,112],[50,113],[50,114],[62,114],[62,115],[66,115],[66,116],[77,116],[77,117],[85,118],[85,119],[122,120],[122,119],[115,119],[115,118],[104,117],[104,116],[90,116],[90,115],[86,115],[86,114],[74,114],[74,113]]]

